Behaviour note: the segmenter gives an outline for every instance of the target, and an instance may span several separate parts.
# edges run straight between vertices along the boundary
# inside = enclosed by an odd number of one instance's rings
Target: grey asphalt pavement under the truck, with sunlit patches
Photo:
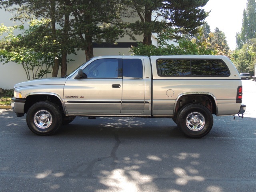
[[[0,110],[0,191],[255,192],[256,84],[242,82],[244,118],[214,116],[200,139],[168,118],[77,117],[37,136]]]

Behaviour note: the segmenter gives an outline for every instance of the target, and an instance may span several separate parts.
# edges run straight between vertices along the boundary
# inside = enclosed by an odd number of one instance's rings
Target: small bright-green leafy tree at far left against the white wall
[[[42,78],[51,72],[50,67],[54,64],[52,60],[54,53],[38,52],[36,46],[28,47],[26,45],[28,36],[36,38],[38,32],[35,32],[35,28],[37,27],[33,25],[28,30],[24,30],[23,25],[6,27],[2,24],[0,27],[0,35],[7,34],[0,40],[0,62],[15,62],[22,65],[28,80]],[[22,34],[14,36],[16,29],[20,30]],[[47,42],[47,40],[45,41]],[[38,46],[44,46],[44,43],[41,42]]]

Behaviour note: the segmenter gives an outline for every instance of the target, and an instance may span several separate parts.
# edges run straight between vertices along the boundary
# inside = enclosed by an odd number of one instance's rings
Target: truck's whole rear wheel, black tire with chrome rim
[[[177,125],[186,136],[201,138],[212,129],[212,113],[202,104],[188,104],[178,112]]]

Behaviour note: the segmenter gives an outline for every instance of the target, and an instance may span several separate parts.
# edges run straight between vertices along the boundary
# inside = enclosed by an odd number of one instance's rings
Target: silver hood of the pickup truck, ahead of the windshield
[[[15,85],[17,87],[24,87],[24,86],[35,86],[35,85],[64,85],[66,82],[66,78],[62,77],[52,77],[52,78],[43,78],[43,79],[35,79],[24,81]]]

